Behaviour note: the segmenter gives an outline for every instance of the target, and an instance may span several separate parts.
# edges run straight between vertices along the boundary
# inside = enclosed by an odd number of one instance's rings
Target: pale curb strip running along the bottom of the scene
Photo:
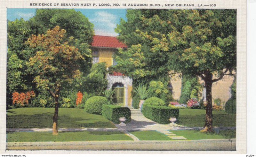
[[[7,142],[6,150],[236,151],[236,139],[202,139],[173,141]]]

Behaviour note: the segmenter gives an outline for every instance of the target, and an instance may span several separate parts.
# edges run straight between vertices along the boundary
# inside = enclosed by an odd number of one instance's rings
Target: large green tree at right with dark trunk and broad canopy
[[[129,46],[117,54],[127,73],[174,70],[204,80],[202,131],[212,131],[212,83],[236,70],[236,10],[128,10],[116,31]]]

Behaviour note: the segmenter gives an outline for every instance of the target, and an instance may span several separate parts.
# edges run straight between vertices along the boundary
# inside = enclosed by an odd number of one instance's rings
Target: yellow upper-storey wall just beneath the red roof
[[[106,62],[107,67],[113,64],[113,49],[99,49],[99,62]]]

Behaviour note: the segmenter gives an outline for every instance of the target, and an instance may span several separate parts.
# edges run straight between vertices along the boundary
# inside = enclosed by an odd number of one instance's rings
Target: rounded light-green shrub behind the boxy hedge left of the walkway
[[[102,115],[102,105],[107,104],[108,99],[103,96],[93,96],[84,104],[85,112]]]

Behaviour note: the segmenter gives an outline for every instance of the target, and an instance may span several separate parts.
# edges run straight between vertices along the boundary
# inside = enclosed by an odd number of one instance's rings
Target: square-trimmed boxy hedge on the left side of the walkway
[[[120,123],[119,118],[125,117],[124,123],[131,121],[131,110],[130,108],[120,107],[118,105],[106,105],[102,106],[102,116],[106,117],[113,123]]]

